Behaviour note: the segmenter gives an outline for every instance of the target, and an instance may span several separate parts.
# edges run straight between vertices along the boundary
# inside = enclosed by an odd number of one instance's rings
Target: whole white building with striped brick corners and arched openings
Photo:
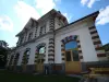
[[[61,12],[51,10],[39,20],[31,19],[16,35],[10,70],[40,73],[81,73],[88,65],[106,60],[95,26],[99,12],[68,23]]]

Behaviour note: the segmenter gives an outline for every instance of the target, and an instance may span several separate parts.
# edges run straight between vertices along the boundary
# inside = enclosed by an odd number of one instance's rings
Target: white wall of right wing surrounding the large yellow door
[[[89,21],[90,22],[90,21]],[[68,27],[58,31],[56,33],[56,63],[61,63],[61,39],[63,39],[66,36],[70,35],[78,35],[80,36],[80,43],[82,47],[83,52],[83,61],[98,61],[98,58],[96,56],[96,50],[94,47],[94,44],[92,42],[92,37],[88,31],[88,27],[93,25],[93,23],[88,24],[85,22],[81,22],[74,25],[69,25]]]

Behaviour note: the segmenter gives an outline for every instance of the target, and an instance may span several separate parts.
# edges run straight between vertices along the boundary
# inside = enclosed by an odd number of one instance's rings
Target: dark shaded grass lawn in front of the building
[[[65,75],[33,75],[0,71],[0,82],[78,82],[80,79]]]

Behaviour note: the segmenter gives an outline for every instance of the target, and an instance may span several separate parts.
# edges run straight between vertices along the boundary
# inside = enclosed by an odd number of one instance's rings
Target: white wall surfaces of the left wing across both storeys
[[[50,20],[47,19],[47,20],[45,20],[43,22],[39,22],[38,27],[37,27],[37,35],[36,36],[39,36],[40,26],[44,26],[45,24],[46,24],[46,33],[49,32],[49,21]],[[33,32],[33,38],[35,37],[35,31],[36,31],[36,28],[33,27],[27,32],[26,42],[28,39],[28,35],[29,35],[31,32]],[[46,43],[46,61],[44,63],[48,63],[49,36],[45,36],[45,37],[39,38],[35,43],[29,43],[29,44],[16,49],[16,52],[20,52],[20,59],[19,59],[17,66],[21,66],[22,57],[23,57],[23,54],[24,54],[26,48],[31,48],[31,55],[29,55],[29,59],[28,59],[28,63],[27,65],[34,65],[36,46],[38,44],[41,44],[41,43]]]

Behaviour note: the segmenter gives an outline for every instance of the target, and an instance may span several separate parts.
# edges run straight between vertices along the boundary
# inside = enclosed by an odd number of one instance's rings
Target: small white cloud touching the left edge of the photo
[[[0,30],[2,31],[13,31],[13,22],[8,15],[0,16]]]

